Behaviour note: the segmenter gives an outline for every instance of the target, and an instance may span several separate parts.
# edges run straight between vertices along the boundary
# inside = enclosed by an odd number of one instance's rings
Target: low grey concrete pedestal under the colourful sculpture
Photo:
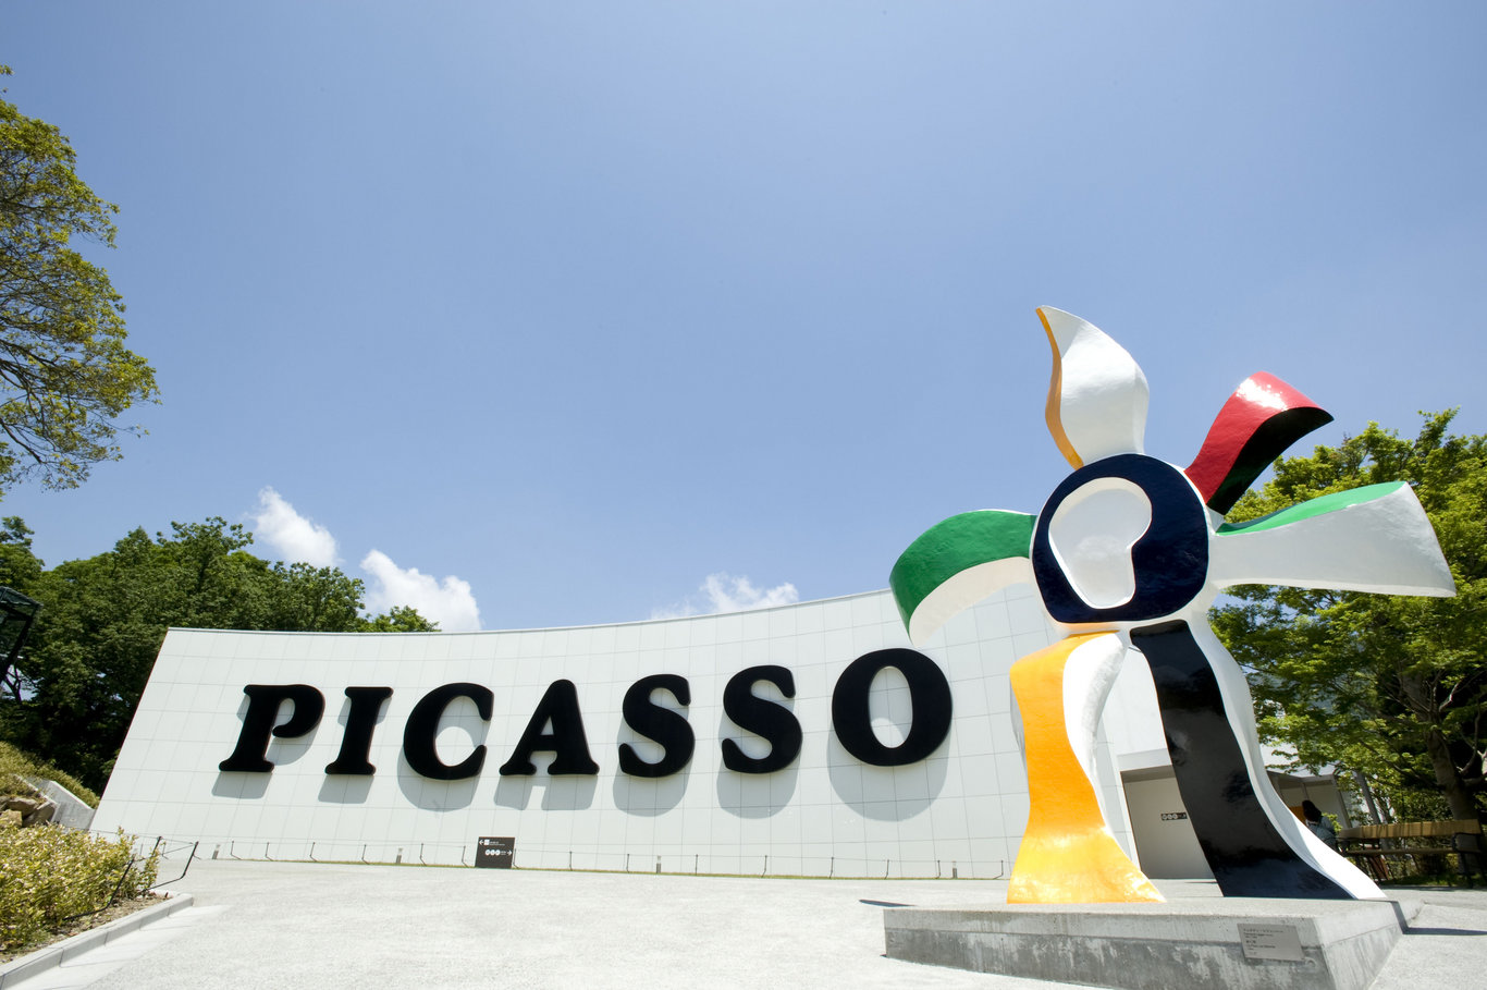
[[[1419,902],[1222,898],[1167,904],[888,908],[889,959],[1096,987],[1364,990]]]

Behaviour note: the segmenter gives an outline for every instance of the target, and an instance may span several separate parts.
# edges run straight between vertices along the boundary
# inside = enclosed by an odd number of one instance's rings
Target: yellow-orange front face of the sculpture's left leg
[[[1094,785],[1069,744],[1063,668],[1075,649],[1100,636],[1109,633],[1069,636],[1013,664],[1030,810],[1007,887],[1008,904],[1163,901],[1115,843]]]

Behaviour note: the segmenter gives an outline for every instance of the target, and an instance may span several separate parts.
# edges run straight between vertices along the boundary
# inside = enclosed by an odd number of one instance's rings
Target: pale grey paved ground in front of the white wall
[[[996,881],[202,860],[171,886],[195,907],[22,990],[1059,986],[883,957],[885,904],[1001,904]],[[1212,884],[1158,886],[1216,896]],[[1487,892],[1401,896],[1426,907],[1373,990],[1487,990]]]

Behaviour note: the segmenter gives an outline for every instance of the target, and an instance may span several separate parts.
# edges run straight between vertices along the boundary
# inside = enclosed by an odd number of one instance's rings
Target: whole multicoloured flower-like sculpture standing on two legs
[[[1383,896],[1270,786],[1249,686],[1207,609],[1240,584],[1454,594],[1414,493],[1370,485],[1225,524],[1265,466],[1332,417],[1257,374],[1197,459],[1175,467],[1142,451],[1148,389],[1135,359],[1077,316],[1038,316],[1053,345],[1048,430],[1074,473],[1036,517],[989,509],[940,523],[889,579],[915,643],[1016,582],[1033,584],[1066,633],[1011,670],[1030,808],[1008,902],[1161,899],[1115,843],[1093,782],[1100,710],[1127,649],[1151,668],[1182,802],[1225,896]]]

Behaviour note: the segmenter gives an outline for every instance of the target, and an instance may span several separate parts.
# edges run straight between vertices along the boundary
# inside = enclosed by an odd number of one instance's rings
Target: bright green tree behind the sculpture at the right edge
[[[1338,447],[1280,459],[1228,517],[1408,481],[1451,566],[1454,598],[1249,587],[1233,590],[1213,624],[1251,676],[1267,741],[1300,765],[1338,764],[1365,796],[1469,819],[1487,793],[1487,438],[1450,435],[1454,415],[1423,414],[1413,441],[1370,423]]]

